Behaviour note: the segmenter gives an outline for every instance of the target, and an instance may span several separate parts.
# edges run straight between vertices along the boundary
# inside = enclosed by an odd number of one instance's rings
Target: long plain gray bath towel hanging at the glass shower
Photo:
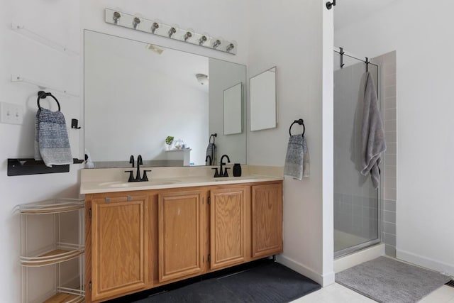
[[[374,188],[380,182],[380,163],[382,153],[386,150],[382,118],[377,101],[375,84],[370,72],[366,74],[364,107],[361,128],[361,174],[370,173]]]

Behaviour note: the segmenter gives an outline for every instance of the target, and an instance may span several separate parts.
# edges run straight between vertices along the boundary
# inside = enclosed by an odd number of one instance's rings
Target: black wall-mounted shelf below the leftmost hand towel
[[[84,162],[77,158],[72,159],[74,164]],[[21,175],[39,175],[39,174],[52,174],[55,172],[69,172],[70,165],[52,165],[47,167],[42,160],[35,160],[33,158],[21,158],[21,159],[8,159],[8,172],[9,176],[21,176]]]

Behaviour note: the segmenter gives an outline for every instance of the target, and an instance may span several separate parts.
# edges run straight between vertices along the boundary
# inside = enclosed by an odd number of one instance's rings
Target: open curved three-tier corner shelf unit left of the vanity
[[[84,302],[84,199],[21,204],[23,303]]]

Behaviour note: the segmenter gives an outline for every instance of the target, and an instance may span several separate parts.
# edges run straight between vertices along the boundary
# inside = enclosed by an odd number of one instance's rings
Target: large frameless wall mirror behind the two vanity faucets
[[[95,167],[139,154],[148,166],[206,165],[216,133],[216,158],[245,164],[245,131],[223,134],[224,92],[240,83],[244,94],[245,75],[244,65],[86,30],[85,149]],[[168,150],[167,136],[184,145]]]

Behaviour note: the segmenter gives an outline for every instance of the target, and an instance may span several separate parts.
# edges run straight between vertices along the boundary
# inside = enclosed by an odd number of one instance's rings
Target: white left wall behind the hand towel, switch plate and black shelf
[[[20,302],[20,223],[13,207],[56,195],[77,197],[77,169],[80,165],[71,165],[69,173],[6,176],[7,158],[33,158],[33,128],[39,90],[32,84],[11,82],[11,74],[17,73],[76,94],[82,95],[82,92],[79,89],[79,56],[66,55],[12,31],[11,21],[79,52],[79,3],[70,0],[5,0],[1,1],[0,11],[3,21],[0,28],[0,101],[21,105],[25,111],[23,125],[0,124],[0,258],[4,260],[0,265],[0,290],[2,302]],[[57,93],[55,97],[60,101],[67,123],[72,118],[80,119],[82,98]],[[40,103],[49,106],[45,100]],[[55,104],[50,105],[52,110],[57,109]],[[83,155],[80,134],[80,131],[69,130],[74,158]]]

